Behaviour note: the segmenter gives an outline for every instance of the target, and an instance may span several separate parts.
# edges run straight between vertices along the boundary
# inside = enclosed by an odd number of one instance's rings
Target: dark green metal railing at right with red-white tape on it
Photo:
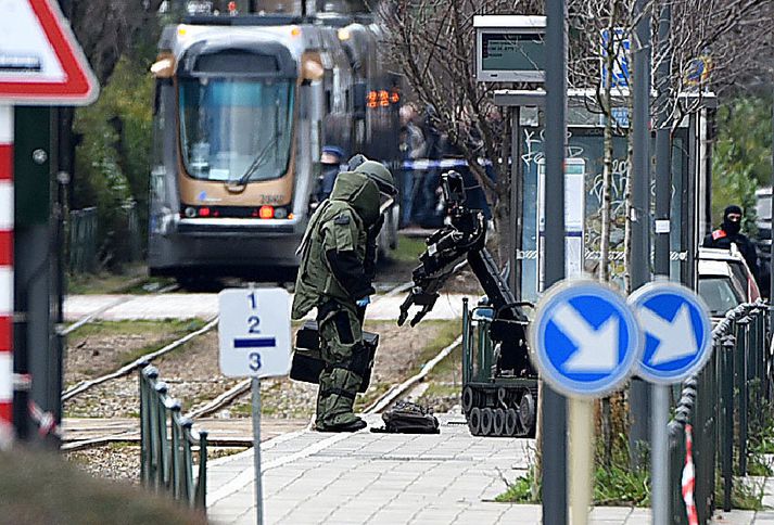
[[[719,503],[731,510],[734,476],[747,474],[750,438],[764,425],[764,408],[772,400],[769,324],[769,306],[762,302],[729,310],[712,330],[707,366],[677,390],[669,423],[670,515],[675,525],[688,523],[683,489],[690,490],[691,483],[699,523],[708,523]],[[716,494],[722,501],[715,502]]]

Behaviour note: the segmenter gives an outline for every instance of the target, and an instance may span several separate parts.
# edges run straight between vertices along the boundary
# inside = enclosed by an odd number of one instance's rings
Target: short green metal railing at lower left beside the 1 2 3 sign
[[[158,370],[147,366],[140,375],[140,479],[192,508],[206,509],[207,433],[193,430],[181,415],[180,401],[168,396]],[[198,454],[199,465],[193,459]],[[194,469],[196,476],[194,481]]]

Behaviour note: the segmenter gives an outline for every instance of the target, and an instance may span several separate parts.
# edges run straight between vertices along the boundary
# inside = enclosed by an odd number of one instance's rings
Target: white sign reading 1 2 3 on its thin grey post
[[[220,371],[252,377],[256,523],[264,523],[261,476],[261,377],[290,372],[290,295],[282,289],[224,290],[218,294]]]

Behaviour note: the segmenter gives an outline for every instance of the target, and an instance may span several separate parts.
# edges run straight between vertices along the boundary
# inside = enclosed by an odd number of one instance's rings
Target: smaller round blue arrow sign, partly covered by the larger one
[[[701,370],[712,353],[712,324],[701,297],[676,283],[652,282],[629,304],[645,334],[637,375],[670,384]]]

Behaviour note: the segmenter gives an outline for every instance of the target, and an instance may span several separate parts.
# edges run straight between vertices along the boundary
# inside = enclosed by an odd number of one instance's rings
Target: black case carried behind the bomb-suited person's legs
[[[363,332],[363,342],[368,351],[368,371],[363,374],[363,383],[357,392],[366,392],[371,382],[373,358],[379,346],[379,334]],[[304,383],[319,384],[320,372],[326,368],[326,361],[320,355],[320,335],[317,321],[306,321],[295,334],[295,351],[290,368],[290,379]]]

